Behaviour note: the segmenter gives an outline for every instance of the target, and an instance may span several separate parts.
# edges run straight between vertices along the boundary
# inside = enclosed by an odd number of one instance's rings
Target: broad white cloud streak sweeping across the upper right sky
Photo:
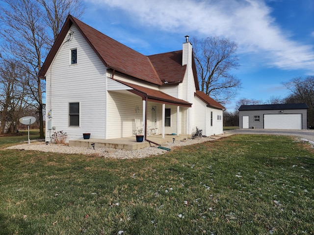
[[[314,68],[313,45],[289,39],[263,0],[93,0],[100,7],[122,10],[142,27],[166,32],[193,32],[198,37],[234,40],[241,53],[257,53],[280,69]]]

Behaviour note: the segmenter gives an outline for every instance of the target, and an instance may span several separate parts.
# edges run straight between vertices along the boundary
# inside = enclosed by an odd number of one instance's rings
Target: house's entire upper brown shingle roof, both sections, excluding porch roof
[[[106,67],[156,85],[170,85],[175,82],[183,82],[186,66],[182,66],[182,50],[145,56],[71,15],[68,16],[63,25],[39,72],[39,76],[45,76],[54,56],[73,24],[76,25],[86,42]],[[196,90],[199,90],[194,59],[192,68]]]

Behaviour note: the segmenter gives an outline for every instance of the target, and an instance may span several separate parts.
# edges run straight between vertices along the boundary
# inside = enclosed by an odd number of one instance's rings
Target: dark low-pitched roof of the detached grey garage
[[[308,109],[306,103],[301,104],[258,104],[258,105],[241,105],[239,111],[244,110],[277,110],[277,109]]]

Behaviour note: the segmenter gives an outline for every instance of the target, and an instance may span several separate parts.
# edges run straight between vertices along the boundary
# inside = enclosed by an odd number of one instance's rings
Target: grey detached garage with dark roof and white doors
[[[308,105],[262,104],[241,105],[239,127],[256,129],[307,129]]]

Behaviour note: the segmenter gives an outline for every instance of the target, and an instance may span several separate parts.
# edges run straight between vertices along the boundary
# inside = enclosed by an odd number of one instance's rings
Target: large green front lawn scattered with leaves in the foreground
[[[314,152],[289,137],[234,135],[136,160],[0,156],[0,235],[314,233]]]

